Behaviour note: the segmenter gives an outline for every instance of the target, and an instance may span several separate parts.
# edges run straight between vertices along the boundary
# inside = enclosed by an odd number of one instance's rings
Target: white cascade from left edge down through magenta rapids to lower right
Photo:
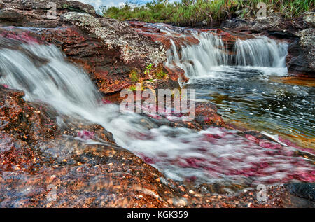
[[[87,74],[66,62],[55,46],[23,44],[18,50],[1,48],[0,59],[0,83],[25,90],[26,99],[50,104],[63,116],[103,125],[113,133],[118,145],[172,179],[251,185],[293,179],[315,181],[313,165],[294,155],[293,147],[270,141],[256,144],[252,137],[240,136],[236,130],[216,127],[201,132],[158,127],[151,118],[123,114],[117,105],[102,104]]]

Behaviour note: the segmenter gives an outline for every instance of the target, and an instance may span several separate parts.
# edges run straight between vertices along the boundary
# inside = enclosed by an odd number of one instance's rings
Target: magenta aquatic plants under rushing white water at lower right
[[[139,134],[138,139],[148,139],[150,135]],[[230,140],[235,144],[230,144]],[[284,139],[280,139],[282,142]],[[165,168],[172,166],[183,172],[195,170],[199,175],[181,175],[183,180],[197,179],[237,179],[248,178],[253,183],[286,183],[305,181],[314,183],[315,169],[310,160],[297,156],[290,141],[279,144],[276,141],[258,139],[253,135],[238,136],[233,131],[211,128],[194,139],[181,141],[186,152],[152,153],[141,152],[139,156],[148,164]],[[291,146],[286,146],[290,144]],[[166,167],[168,168],[168,167]],[[202,175],[202,176],[201,176]]]

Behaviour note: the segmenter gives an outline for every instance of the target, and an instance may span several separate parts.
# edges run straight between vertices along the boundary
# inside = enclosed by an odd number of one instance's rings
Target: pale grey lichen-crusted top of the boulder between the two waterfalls
[[[119,50],[120,57],[126,64],[154,64],[166,60],[161,44],[150,41],[137,34],[127,23],[106,18],[94,18],[87,13],[65,13],[64,22],[71,23],[101,39],[109,49]]]

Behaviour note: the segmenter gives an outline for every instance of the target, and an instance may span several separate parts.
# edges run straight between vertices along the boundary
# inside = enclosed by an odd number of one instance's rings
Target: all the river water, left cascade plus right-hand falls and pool
[[[231,59],[218,47],[222,44],[218,37],[198,38],[201,43],[183,48],[181,55],[170,50],[168,61],[186,71],[190,77],[186,87],[197,89],[197,99],[215,102],[225,118],[267,125],[269,133],[283,127],[314,138],[314,89],[268,80],[270,75],[286,74],[286,43],[265,37],[239,41],[237,56]],[[315,181],[314,155],[281,141],[257,144],[237,130],[218,127],[196,132],[160,126],[153,118],[123,114],[115,104],[102,104],[85,71],[66,62],[55,46],[22,43],[20,50],[1,48],[0,57],[0,83],[24,90],[29,101],[49,104],[61,118],[104,126],[119,146],[171,179],[246,186]]]

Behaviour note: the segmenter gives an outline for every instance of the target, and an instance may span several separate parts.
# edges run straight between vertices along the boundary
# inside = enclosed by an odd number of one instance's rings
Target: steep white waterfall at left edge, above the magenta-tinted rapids
[[[0,58],[0,83],[25,91],[27,100],[39,99],[64,114],[82,115],[101,98],[83,70],[66,62],[55,46],[1,48]]]

